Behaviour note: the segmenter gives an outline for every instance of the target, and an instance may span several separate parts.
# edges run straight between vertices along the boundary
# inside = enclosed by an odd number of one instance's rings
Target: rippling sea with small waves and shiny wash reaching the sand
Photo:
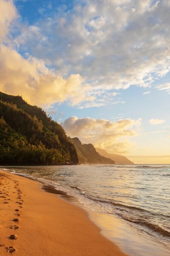
[[[101,233],[125,253],[170,255],[170,165],[0,168],[65,192],[60,197],[87,210]]]

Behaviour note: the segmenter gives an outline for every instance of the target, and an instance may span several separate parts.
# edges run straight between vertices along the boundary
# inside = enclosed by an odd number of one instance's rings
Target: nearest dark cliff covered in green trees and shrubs
[[[78,164],[65,130],[42,108],[0,92],[0,165]]]

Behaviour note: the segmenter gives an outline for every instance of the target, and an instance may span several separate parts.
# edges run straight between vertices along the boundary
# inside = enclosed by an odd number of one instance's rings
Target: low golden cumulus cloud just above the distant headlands
[[[84,143],[92,143],[109,152],[125,153],[135,144],[128,137],[136,136],[141,125],[138,120],[120,119],[112,122],[106,119],[77,118],[72,116],[61,123],[70,137],[78,137]]]

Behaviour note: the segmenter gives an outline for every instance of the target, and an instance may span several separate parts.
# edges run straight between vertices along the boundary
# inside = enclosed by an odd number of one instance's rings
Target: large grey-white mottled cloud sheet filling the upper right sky
[[[170,71],[169,13],[167,0],[74,2],[37,20],[38,33],[25,28],[15,42],[64,76],[82,75],[93,90],[150,87]]]

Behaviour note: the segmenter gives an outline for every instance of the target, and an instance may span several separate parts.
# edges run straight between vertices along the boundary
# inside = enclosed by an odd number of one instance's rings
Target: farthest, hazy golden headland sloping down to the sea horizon
[[[110,159],[115,161],[115,164],[123,164],[123,165],[133,165],[134,163],[131,162],[127,157],[124,155],[118,155],[118,154],[110,154],[104,149],[101,148],[96,148],[96,151],[104,156],[104,157],[109,157]]]

